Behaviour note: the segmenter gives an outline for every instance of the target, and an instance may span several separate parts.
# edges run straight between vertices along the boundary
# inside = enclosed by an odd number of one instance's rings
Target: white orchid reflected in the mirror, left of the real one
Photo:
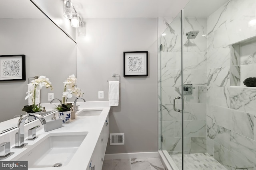
[[[30,106],[24,106],[22,109],[23,111],[26,111],[27,113],[36,113],[42,110],[42,107],[40,104],[36,104],[36,98],[38,98],[40,94],[40,90],[42,87],[51,88],[52,90],[52,83],[50,82],[49,78],[46,76],[40,76],[38,79],[32,80],[32,83],[28,84],[29,86],[34,86],[34,88],[31,88],[26,92],[27,96],[25,100],[32,100],[32,105]]]

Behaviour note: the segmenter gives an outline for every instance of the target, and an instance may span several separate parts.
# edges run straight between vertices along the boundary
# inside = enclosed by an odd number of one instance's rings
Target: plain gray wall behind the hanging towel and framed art
[[[86,36],[76,37],[78,87],[86,101],[108,100],[107,80],[120,74],[120,101],[110,111],[110,133],[124,133],[125,145],[106,153],[158,150],[157,18],[88,19]],[[123,52],[148,51],[148,76],[123,77]]]

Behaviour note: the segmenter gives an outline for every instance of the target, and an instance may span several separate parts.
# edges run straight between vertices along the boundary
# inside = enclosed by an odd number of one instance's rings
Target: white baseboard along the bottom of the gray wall
[[[158,152],[136,152],[136,153],[118,153],[105,154],[104,160],[112,159],[132,159],[132,158],[158,158]]]

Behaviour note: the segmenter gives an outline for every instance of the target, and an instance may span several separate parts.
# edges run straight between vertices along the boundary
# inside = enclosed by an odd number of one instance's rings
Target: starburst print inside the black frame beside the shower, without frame
[[[129,56],[128,57],[128,72],[144,72],[144,58],[141,56]]]

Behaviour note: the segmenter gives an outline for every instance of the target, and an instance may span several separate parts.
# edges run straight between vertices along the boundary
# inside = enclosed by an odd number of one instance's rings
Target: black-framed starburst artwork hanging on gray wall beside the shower
[[[125,76],[148,76],[148,51],[124,52]]]

